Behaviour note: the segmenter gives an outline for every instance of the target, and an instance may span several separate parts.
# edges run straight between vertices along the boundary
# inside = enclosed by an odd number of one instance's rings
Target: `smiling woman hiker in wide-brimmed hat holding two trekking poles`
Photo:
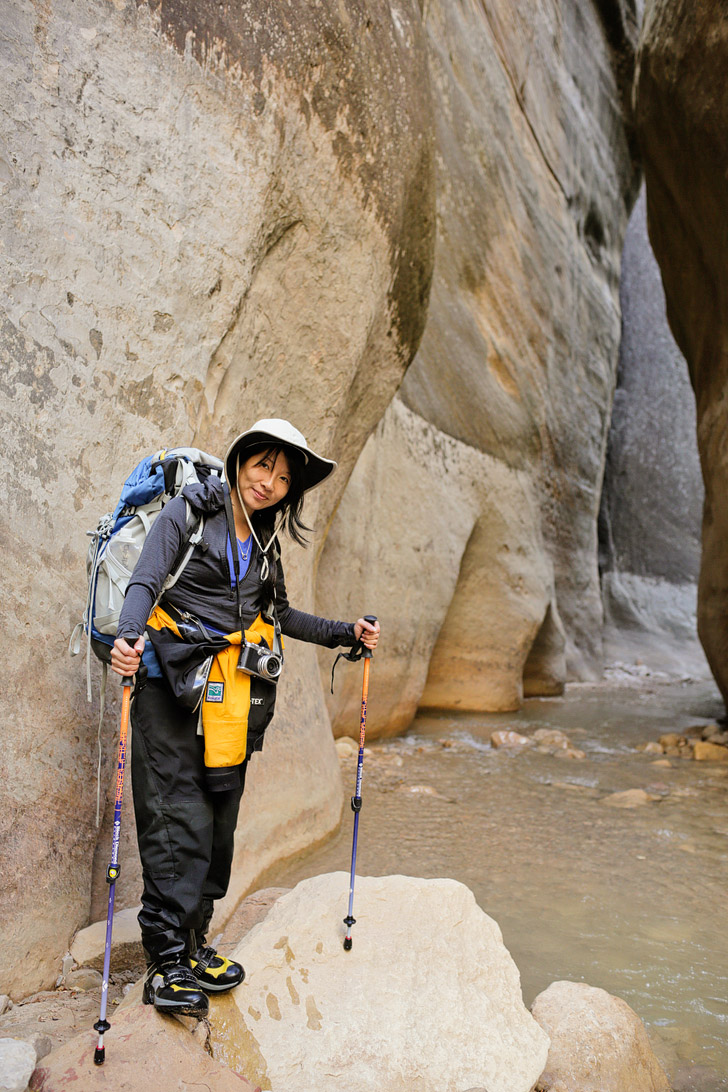
[[[232,441],[224,465],[225,480],[187,486],[155,520],[111,652],[118,675],[136,674],[140,657],[146,667],[132,703],[144,1001],[188,1016],[205,1014],[205,992],[244,976],[205,936],[227,891],[248,760],[273,715],[281,633],[327,648],[374,649],[379,639],[378,624],[303,614],[286,596],[278,533],[305,544],[305,494],[336,464],[288,422],[268,419]],[[201,520],[202,541],[163,594]]]

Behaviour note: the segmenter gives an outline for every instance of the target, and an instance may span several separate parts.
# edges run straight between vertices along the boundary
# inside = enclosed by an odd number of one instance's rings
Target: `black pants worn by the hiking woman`
[[[150,679],[132,703],[132,786],[144,891],[139,924],[147,958],[168,962],[204,940],[213,901],[227,891],[246,784],[211,793],[198,714]]]

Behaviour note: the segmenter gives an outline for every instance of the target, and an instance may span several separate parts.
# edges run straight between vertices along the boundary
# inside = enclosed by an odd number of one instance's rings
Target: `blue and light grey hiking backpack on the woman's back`
[[[127,586],[152,523],[184,486],[202,482],[210,474],[222,476],[223,463],[198,448],[171,448],[147,455],[124,482],[114,511],[100,518],[95,531],[87,532],[92,541],[86,557],[86,606],[83,620],[71,636],[69,651],[71,655],[81,652],[81,638],[85,633],[88,701],[92,700],[91,653],[105,665],[110,663]],[[202,538],[204,520],[193,515],[189,503],[187,513],[180,559],[165,580],[162,593],[177,582]]]

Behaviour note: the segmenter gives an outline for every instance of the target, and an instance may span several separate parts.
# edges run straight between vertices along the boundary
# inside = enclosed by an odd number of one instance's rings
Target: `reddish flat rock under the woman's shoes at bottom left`
[[[213,998],[211,1022],[215,1005]],[[205,1049],[206,1029],[202,1042],[194,1033],[200,1021],[191,1021],[193,1032],[181,1021],[160,1016],[153,1006],[136,1000],[119,1007],[110,1022],[104,1036],[104,1066],[94,1065],[96,1036],[86,1031],[43,1059],[31,1078],[31,1092],[68,1092],[72,1083],[83,1092],[108,1092],[110,1087],[114,1092],[179,1092],[188,1088],[253,1092],[254,1085],[242,1075],[210,1056]]]

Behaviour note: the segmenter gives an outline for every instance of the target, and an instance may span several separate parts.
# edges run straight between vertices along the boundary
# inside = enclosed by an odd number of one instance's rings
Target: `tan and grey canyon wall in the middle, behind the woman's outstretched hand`
[[[515,709],[601,664],[597,512],[637,171],[632,4],[425,9],[438,246],[427,330],[324,547],[382,615],[371,733]],[[357,685],[330,709],[357,731]]]

